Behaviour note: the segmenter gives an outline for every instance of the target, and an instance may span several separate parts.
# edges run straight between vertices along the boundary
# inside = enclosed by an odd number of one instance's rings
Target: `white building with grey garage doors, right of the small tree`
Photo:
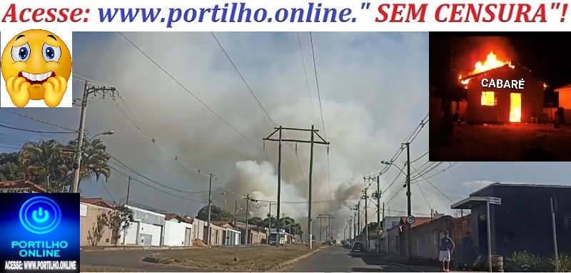
[[[133,211],[133,222],[123,232],[121,244],[162,246],[165,234],[165,214],[125,205]]]

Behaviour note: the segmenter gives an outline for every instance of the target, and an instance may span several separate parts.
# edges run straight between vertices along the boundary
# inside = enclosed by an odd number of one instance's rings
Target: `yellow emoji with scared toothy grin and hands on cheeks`
[[[6,89],[14,105],[44,99],[56,107],[64,98],[71,74],[71,53],[56,34],[31,29],[14,36],[0,61]]]

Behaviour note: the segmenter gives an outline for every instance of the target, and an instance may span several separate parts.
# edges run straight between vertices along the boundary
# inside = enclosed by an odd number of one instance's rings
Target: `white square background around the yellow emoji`
[[[29,30],[29,29],[44,29],[41,27],[29,27],[29,28],[22,28],[22,26],[25,26],[24,24],[20,24],[18,28],[10,28],[10,29],[5,29],[2,28],[0,31],[0,47],[1,50],[4,51],[4,49],[6,48],[6,44],[8,44],[10,42],[10,40],[12,38],[14,38],[14,36],[16,36],[17,34],[20,34],[23,31]],[[44,26],[46,26],[46,24],[44,24]],[[73,100],[73,91],[71,89],[71,86],[73,84],[71,84],[71,79],[73,76],[73,64],[74,64],[74,54],[72,52],[72,45],[71,45],[71,31],[58,31],[58,29],[61,28],[56,28],[55,25],[52,28],[46,28],[44,30],[46,31],[50,31],[51,33],[56,34],[57,36],[59,36],[61,39],[64,40],[64,42],[66,43],[66,46],[69,48],[69,53],[71,54],[71,64],[72,64],[72,69],[71,72],[72,74],[69,76],[69,79],[67,81],[67,90],[66,93],[64,94],[64,98],[61,99],[61,102],[59,103],[59,105],[57,107],[71,107],[72,106],[72,100]],[[8,94],[8,91],[6,90],[6,81],[4,81],[4,76],[0,76],[0,107],[16,107],[14,105],[14,103],[12,103],[12,100],[10,99],[10,95]],[[29,103],[25,106],[25,108],[28,107],[48,107],[46,105],[46,103],[44,102],[43,99],[41,100],[30,100]]]

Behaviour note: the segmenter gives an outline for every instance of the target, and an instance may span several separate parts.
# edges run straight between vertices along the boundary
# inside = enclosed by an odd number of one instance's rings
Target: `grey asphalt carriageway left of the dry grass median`
[[[95,267],[121,267],[137,269],[141,270],[141,272],[192,272],[192,270],[187,267],[143,262],[145,257],[157,252],[161,251],[156,249],[91,251],[81,252],[79,259],[81,265],[87,264]]]

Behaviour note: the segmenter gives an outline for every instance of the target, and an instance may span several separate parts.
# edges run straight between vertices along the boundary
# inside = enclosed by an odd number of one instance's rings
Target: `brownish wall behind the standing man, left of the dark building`
[[[411,256],[418,259],[438,259],[440,239],[444,236],[445,231],[452,231],[453,223],[453,217],[444,216],[413,227]]]

